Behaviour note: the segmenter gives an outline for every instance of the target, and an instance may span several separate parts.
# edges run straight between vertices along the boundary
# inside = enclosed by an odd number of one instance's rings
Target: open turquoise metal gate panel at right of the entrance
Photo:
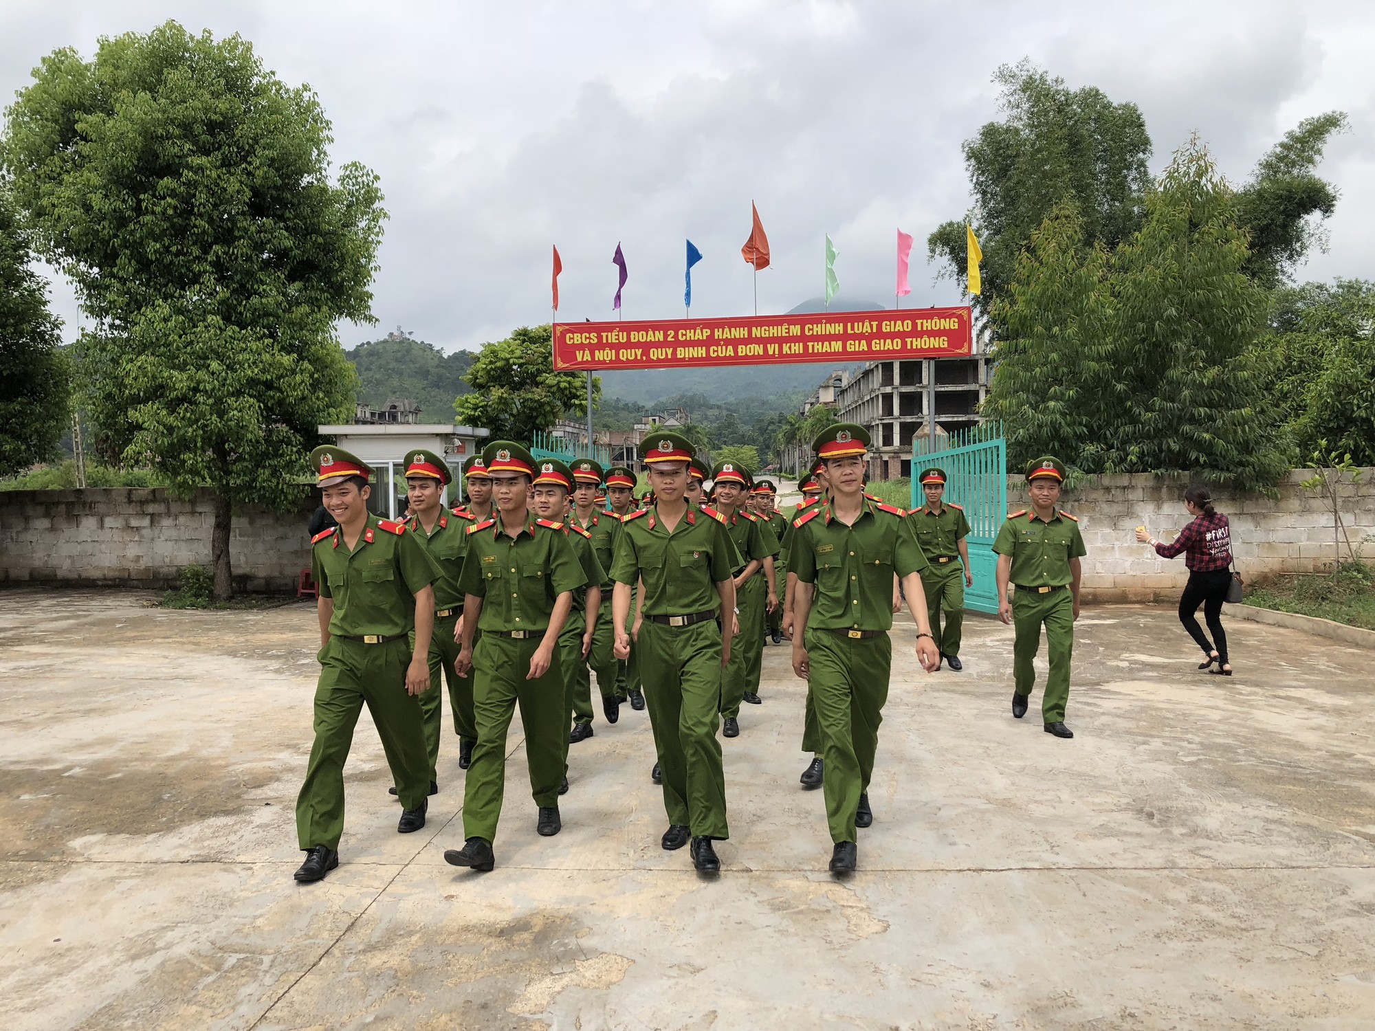
[[[998,557],[993,539],[1008,517],[1008,450],[1002,426],[983,422],[936,440],[921,436],[912,443],[912,507],[925,505],[921,470],[939,466],[946,474],[945,499],[964,507],[969,520],[969,572],[974,587],[964,592],[964,608],[975,612],[998,610],[996,580]]]

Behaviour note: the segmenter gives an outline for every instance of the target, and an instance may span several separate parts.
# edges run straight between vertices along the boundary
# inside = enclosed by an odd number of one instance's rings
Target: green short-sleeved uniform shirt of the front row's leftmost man
[[[415,628],[415,594],[444,577],[439,562],[400,522],[368,514],[349,551],[342,526],[315,537],[311,568],[320,597],[334,601],[330,634],[400,636]]]

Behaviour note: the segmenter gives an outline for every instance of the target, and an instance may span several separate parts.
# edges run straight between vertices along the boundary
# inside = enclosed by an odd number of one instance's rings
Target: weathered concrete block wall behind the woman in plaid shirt
[[[1279,484],[1279,498],[1213,489],[1214,506],[1232,526],[1232,548],[1242,577],[1299,573],[1332,561],[1332,513],[1317,494],[1299,484],[1312,470],[1295,469]],[[1066,511],[1079,518],[1089,554],[1084,558],[1084,597],[1089,602],[1173,602],[1188,580],[1184,555],[1165,559],[1150,544],[1137,544],[1145,526],[1172,540],[1189,522],[1184,510],[1185,476],[1094,476],[1066,491]],[[1339,491],[1342,520],[1357,553],[1375,559],[1375,469]],[[952,499],[956,500],[956,499]],[[1030,507],[1026,481],[1008,480],[1012,511]],[[1345,553],[1345,543],[1343,543]]]

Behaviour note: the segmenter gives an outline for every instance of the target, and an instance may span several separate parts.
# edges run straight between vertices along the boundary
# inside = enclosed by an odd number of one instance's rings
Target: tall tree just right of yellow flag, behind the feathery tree
[[[1114,103],[1101,89],[1070,89],[1028,60],[1004,65],[993,77],[1001,88],[1002,121],[987,122],[964,144],[974,209],[943,223],[927,250],[945,274],[962,283],[965,223],[983,249],[983,293],[972,298],[982,315],[1012,279],[1031,232],[1068,202],[1079,212],[1084,243],[1108,247],[1140,223],[1150,183],[1151,137],[1133,103]]]

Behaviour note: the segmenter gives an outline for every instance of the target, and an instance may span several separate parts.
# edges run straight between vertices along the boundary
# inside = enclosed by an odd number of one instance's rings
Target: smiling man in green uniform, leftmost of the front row
[[[367,702],[402,801],[397,832],[425,826],[430,763],[419,696],[430,686],[434,590],[443,570],[399,522],[367,511],[371,470],[333,445],[311,452],[324,507],[337,526],[311,542],[319,584],[320,679],[315,744],[296,800],[296,833],[307,854],[296,880],[318,881],[338,866],[344,834],[344,762]]]

